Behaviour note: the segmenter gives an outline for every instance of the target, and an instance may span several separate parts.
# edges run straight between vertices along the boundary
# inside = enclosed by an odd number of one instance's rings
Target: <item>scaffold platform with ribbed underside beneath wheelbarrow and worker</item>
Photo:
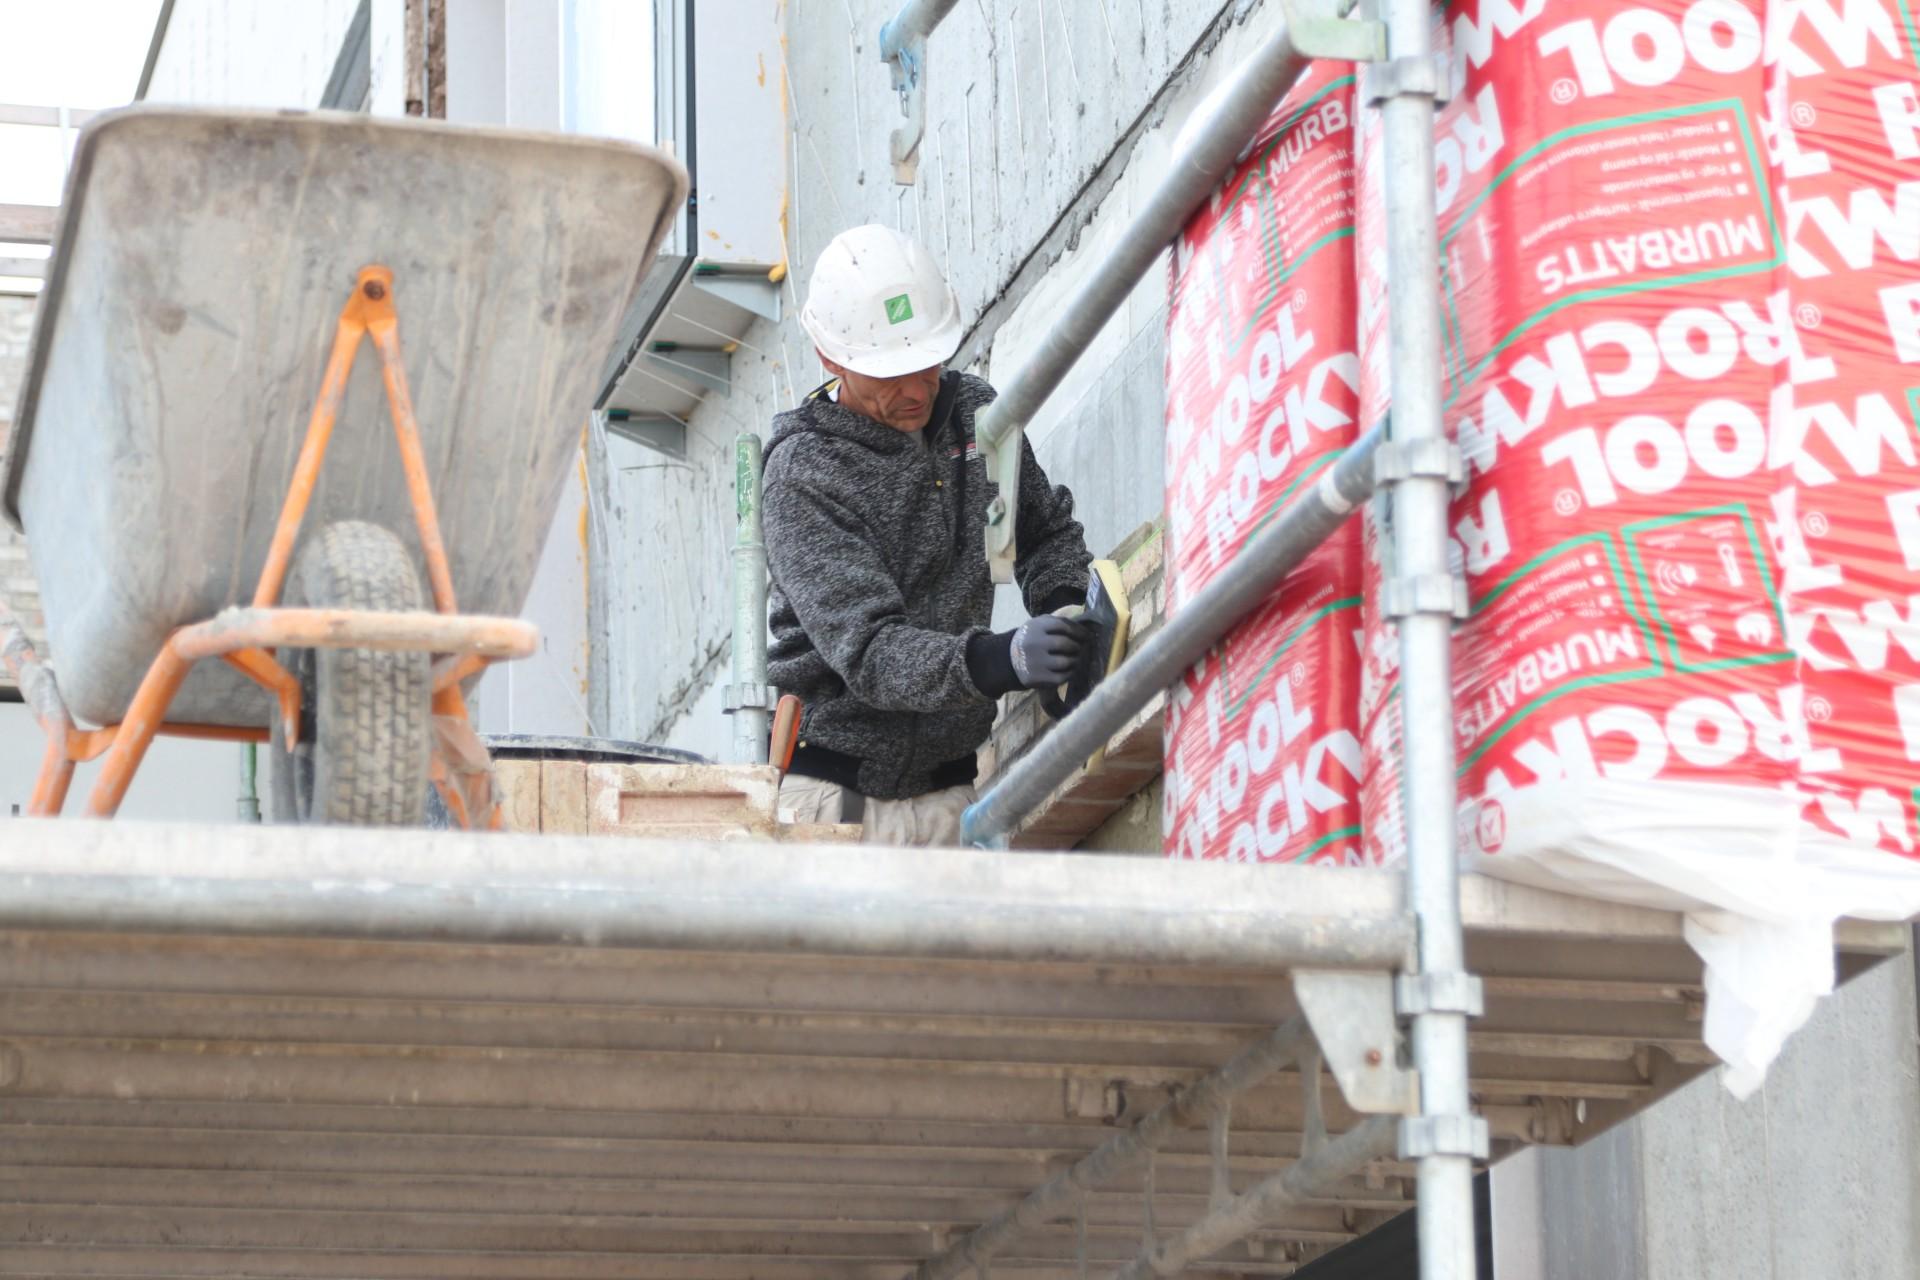
[[[0,831],[0,1274],[897,1280],[1298,1013],[1284,965],[1175,921],[1325,931],[1346,967],[1371,925],[1404,944],[1392,871]],[[528,908],[593,898],[566,936]],[[925,935],[856,919],[912,904]],[[1476,877],[1463,912],[1496,1155],[1707,1067],[1676,915]],[[1014,954],[1027,917],[1058,923],[1044,961]],[[1158,960],[1081,940],[1129,919]],[[1843,973],[1903,933],[1845,925]],[[1331,1134],[1361,1123],[1321,1094]],[[1304,1098],[1288,1067],[1233,1102],[1229,1190],[1302,1155]],[[1162,1238],[1208,1211],[1217,1138],[1091,1196],[1087,1274],[1139,1253],[1148,1180]],[[1375,1159],[1188,1274],[1286,1276],[1404,1211],[1411,1173]],[[1077,1245],[1069,1217],[991,1270],[1064,1280]]]

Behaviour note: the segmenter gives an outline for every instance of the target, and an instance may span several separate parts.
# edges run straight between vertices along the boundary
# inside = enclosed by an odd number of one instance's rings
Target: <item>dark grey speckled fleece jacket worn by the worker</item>
[[[958,380],[952,413],[927,426],[925,447],[820,393],[778,415],[768,443],[768,676],[806,706],[795,771],[879,800],[972,781],[995,699],[1018,687],[1004,643],[987,639],[993,484],[973,415],[995,391],[972,374],[947,378]],[[1018,528],[1027,612],[1085,599],[1091,557],[1073,495],[1048,484],[1031,445]]]

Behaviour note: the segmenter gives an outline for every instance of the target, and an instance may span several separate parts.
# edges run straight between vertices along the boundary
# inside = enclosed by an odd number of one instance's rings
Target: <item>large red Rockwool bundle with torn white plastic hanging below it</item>
[[[1753,1088],[1920,912],[1920,35],[1903,0],[1436,10],[1469,869],[1690,912]],[[1361,416],[1388,411],[1359,119]],[[1402,854],[1367,530],[1363,825]]]

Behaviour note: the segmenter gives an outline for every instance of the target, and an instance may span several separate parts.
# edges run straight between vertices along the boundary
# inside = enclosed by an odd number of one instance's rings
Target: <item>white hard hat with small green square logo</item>
[[[801,326],[835,365],[899,378],[952,357],[960,299],[918,244],[891,226],[854,226],[820,251]]]

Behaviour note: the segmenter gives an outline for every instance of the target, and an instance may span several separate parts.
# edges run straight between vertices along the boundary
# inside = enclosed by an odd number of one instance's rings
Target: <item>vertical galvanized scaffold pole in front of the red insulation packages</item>
[[[1402,787],[1407,904],[1417,973],[1400,983],[1411,1017],[1419,1115],[1402,1123],[1400,1155],[1417,1161],[1421,1280],[1473,1280],[1473,1159],[1486,1123],[1467,1096],[1467,1015],[1478,1006],[1465,973],[1459,858],[1453,841],[1452,628],[1459,589],[1448,566],[1450,474],[1457,474],[1440,403],[1440,249],[1434,209],[1434,106],[1446,69],[1432,56],[1428,0],[1380,0],[1388,59],[1367,69],[1380,109],[1392,428],[1392,564],[1382,614],[1400,628]]]

